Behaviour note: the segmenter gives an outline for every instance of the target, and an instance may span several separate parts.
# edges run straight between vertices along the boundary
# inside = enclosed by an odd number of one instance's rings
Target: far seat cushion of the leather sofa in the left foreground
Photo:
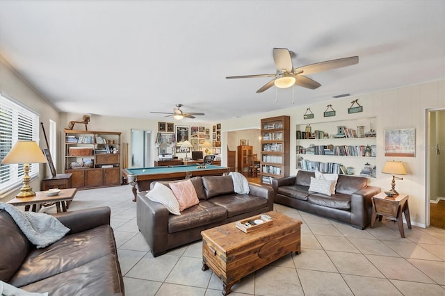
[[[17,273],[10,279],[10,284],[16,287],[26,286],[74,270],[115,252],[113,229],[110,225],[69,234],[48,247],[31,249]]]

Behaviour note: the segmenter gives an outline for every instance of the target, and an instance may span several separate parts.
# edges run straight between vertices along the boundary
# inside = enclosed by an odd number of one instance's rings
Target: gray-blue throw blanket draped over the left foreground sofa
[[[5,210],[13,217],[15,224],[26,238],[38,249],[47,247],[63,238],[70,231],[55,217],[43,213],[22,212],[12,204],[0,202],[0,210]]]

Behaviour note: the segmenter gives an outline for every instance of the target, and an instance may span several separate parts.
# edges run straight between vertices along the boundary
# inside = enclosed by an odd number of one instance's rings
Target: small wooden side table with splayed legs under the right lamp
[[[410,196],[394,195],[394,197],[387,197],[384,192],[380,192],[378,195],[374,195],[372,197],[373,212],[371,215],[371,228],[374,228],[374,223],[377,217],[379,221],[382,221],[382,216],[389,217],[392,220],[396,220],[398,231],[400,231],[401,237],[405,238],[405,231],[403,231],[402,213],[405,214],[405,220],[408,229],[411,229],[408,197]]]

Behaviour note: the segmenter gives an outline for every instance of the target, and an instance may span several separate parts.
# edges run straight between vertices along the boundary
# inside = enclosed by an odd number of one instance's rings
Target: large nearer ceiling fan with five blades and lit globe
[[[303,88],[310,88],[314,90],[319,88],[321,84],[305,75],[327,71],[330,69],[347,67],[359,63],[358,56],[351,56],[349,58],[338,58],[337,60],[326,60],[325,62],[306,65],[294,69],[291,54],[293,54],[293,52],[289,51],[289,49],[273,49],[273,60],[275,62],[275,67],[277,68],[276,74],[228,76],[226,79],[273,77],[271,81],[263,85],[259,90],[257,90],[257,92],[264,92],[264,90],[268,90],[273,85],[275,85],[277,88],[290,88],[292,85],[300,85]]]

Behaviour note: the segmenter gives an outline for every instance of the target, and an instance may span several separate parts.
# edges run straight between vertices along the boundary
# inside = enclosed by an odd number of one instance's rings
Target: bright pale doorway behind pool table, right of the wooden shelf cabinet
[[[131,129],[131,167],[149,167],[152,131]]]

